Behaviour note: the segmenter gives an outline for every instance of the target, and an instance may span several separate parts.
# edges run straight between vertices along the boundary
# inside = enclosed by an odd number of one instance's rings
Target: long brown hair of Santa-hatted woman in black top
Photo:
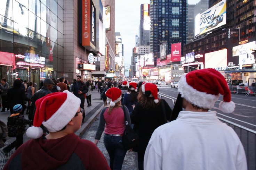
[[[143,94],[142,90],[139,90],[138,101],[141,103],[143,109],[154,109],[161,103],[161,99],[158,97],[159,102],[154,102],[154,97],[148,97]]]

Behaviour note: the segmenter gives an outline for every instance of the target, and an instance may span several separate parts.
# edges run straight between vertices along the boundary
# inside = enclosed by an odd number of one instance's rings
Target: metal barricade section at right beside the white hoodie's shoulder
[[[242,142],[243,148],[245,149],[248,170],[256,169],[256,131],[235,124],[234,122],[228,121],[223,118],[219,118],[222,122],[234,129],[237,133],[240,141]]]

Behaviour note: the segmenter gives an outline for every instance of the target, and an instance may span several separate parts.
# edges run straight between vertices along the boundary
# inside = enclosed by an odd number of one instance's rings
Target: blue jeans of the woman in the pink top
[[[121,136],[104,136],[104,144],[109,153],[110,168],[112,170],[121,170],[123,159],[125,159],[126,150],[123,147]]]

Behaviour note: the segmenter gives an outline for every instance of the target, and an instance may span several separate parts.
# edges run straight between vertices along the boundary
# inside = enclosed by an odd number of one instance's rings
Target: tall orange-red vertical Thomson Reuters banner
[[[82,45],[90,45],[90,0],[82,1]]]

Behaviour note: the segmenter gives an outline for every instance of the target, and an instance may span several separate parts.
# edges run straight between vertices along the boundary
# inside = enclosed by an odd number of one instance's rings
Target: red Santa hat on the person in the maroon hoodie
[[[61,130],[73,119],[80,103],[81,100],[67,90],[41,97],[35,102],[34,126],[27,129],[27,136],[40,138],[43,135],[41,125],[52,133]]]

